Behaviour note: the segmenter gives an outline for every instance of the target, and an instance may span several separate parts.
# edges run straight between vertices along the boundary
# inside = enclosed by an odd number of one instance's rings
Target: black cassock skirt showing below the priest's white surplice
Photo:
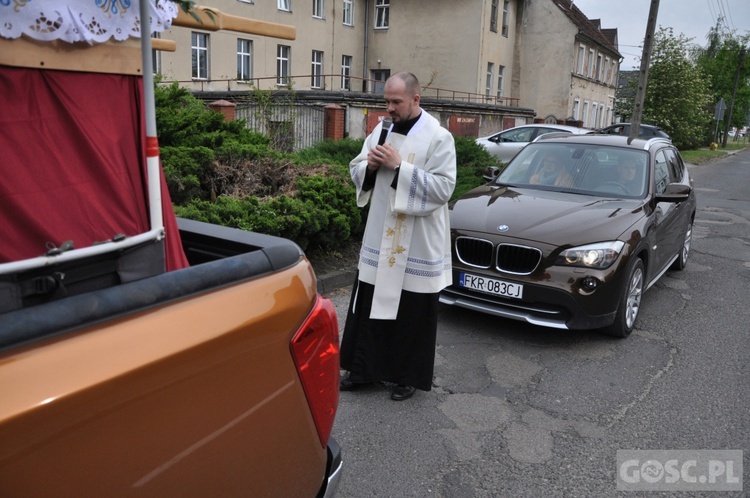
[[[439,293],[402,291],[395,320],[372,320],[374,290],[355,280],[341,341],[341,368],[350,372],[353,382],[393,382],[429,391]]]

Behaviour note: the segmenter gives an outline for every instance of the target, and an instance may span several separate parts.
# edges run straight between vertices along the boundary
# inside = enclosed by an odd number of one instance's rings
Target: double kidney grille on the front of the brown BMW
[[[490,268],[494,249],[494,245],[489,240],[474,237],[456,238],[456,257],[468,266]],[[539,249],[500,244],[497,246],[495,268],[505,273],[528,275],[539,266],[541,259],[542,253]]]

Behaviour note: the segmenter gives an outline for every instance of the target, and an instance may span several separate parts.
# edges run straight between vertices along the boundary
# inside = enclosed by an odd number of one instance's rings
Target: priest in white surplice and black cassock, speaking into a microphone
[[[448,200],[453,135],[420,107],[416,76],[388,78],[389,118],[349,165],[357,205],[370,203],[341,344],[343,391],[375,382],[391,399],[432,387],[438,297],[451,284]]]

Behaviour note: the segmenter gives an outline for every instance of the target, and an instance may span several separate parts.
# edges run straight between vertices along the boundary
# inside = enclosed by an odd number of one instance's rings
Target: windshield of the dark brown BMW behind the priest
[[[495,183],[600,197],[640,199],[648,185],[648,153],[623,147],[532,143]]]

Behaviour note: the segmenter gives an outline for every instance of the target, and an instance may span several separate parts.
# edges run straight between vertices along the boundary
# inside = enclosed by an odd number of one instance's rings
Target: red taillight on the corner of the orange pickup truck
[[[339,404],[339,325],[329,299],[318,295],[291,342],[292,357],[325,448]]]

